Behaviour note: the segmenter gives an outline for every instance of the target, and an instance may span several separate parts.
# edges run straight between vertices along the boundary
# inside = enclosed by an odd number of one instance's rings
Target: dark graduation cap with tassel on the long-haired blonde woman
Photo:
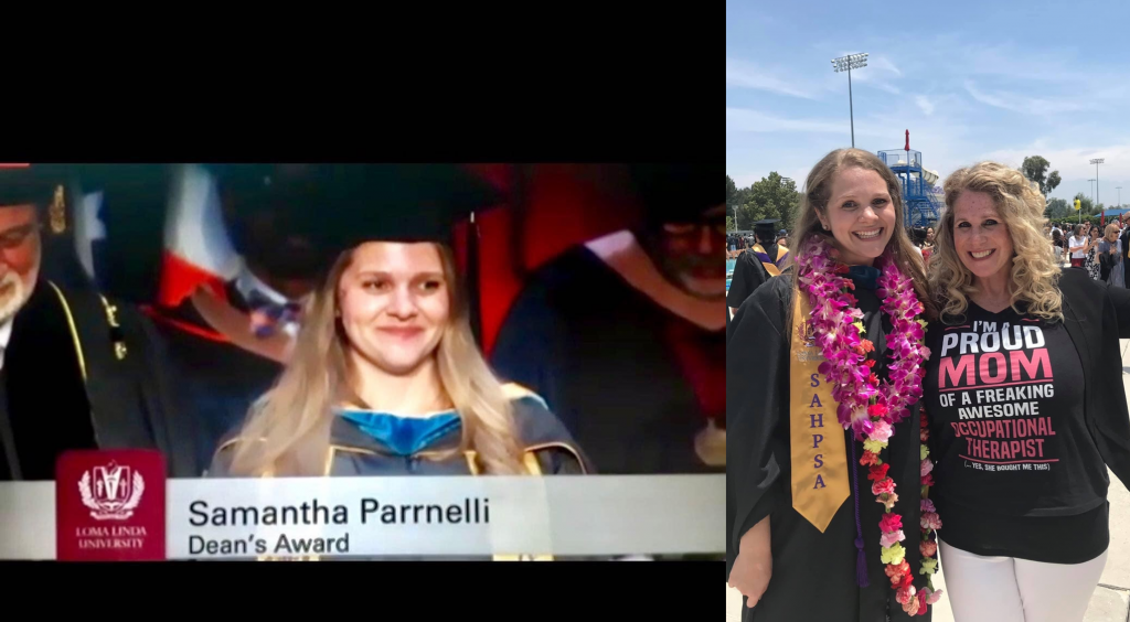
[[[478,336],[478,230],[473,213],[503,196],[469,169],[451,164],[212,165],[223,193],[294,214],[325,251],[327,266],[365,242],[436,242],[454,246],[470,220],[471,324]]]

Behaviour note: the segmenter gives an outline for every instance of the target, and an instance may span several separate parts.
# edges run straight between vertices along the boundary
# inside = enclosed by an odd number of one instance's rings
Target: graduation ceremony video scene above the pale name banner
[[[724,473],[716,176],[0,165],[0,479]]]

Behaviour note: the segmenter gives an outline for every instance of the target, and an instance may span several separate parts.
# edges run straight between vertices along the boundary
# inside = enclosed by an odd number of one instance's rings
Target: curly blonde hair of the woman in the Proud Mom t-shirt
[[[1046,201],[1019,170],[998,163],[979,163],[954,172],[946,179],[946,207],[941,212],[937,251],[930,262],[930,289],[938,297],[942,319],[964,321],[968,298],[977,292],[973,272],[954,247],[954,205],[963,192],[988,194],[1012,239],[1011,301],[1027,304],[1027,313],[1048,321],[1062,321],[1063,297],[1059,290],[1060,266],[1048,248],[1043,227]]]

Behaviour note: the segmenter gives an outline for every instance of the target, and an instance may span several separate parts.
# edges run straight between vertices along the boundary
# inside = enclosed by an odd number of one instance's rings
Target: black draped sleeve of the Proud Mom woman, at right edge
[[[1106,288],[1112,294],[1116,289],[1125,290],[1116,287]],[[1085,413],[1087,427],[1099,455],[1103,456],[1103,462],[1124,485],[1130,485],[1130,412],[1127,409],[1125,397],[1121,395],[1122,352],[1119,340],[1114,339],[1115,332],[1124,331],[1121,327],[1120,316],[1125,312],[1115,310],[1116,304],[1112,298],[1113,296],[1103,296],[1102,339],[1099,343],[1094,344],[1099,351],[1099,363],[1095,369],[1103,375],[1096,386],[1116,386],[1120,394],[1113,396],[1104,408],[1087,408]],[[1120,304],[1125,306],[1124,298]]]

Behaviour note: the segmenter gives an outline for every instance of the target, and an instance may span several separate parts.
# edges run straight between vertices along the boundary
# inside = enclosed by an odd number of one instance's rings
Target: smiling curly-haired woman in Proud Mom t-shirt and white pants
[[[1019,170],[981,163],[945,189],[922,400],[955,617],[1081,620],[1106,561],[1107,466],[1130,483],[1130,294],[1057,265]]]

